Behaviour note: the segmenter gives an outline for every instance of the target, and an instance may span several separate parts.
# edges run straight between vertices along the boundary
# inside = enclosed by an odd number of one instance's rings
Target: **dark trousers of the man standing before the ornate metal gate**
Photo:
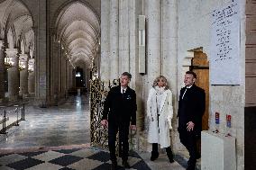
[[[116,163],[115,156],[115,140],[116,134],[119,131],[119,149],[120,149],[120,157],[122,157],[123,161],[128,160],[128,151],[129,151],[129,123],[116,123],[109,122],[108,124],[108,148],[110,152],[110,160],[113,163]]]

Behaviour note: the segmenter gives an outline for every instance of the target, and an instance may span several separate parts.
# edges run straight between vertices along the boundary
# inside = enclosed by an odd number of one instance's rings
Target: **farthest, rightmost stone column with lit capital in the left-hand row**
[[[34,96],[35,92],[35,76],[34,76],[34,58],[29,59],[29,77],[28,77],[28,92]]]

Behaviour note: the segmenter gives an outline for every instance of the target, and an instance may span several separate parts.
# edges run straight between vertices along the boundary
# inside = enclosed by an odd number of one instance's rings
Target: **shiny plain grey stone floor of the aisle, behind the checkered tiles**
[[[0,136],[0,148],[56,147],[89,143],[86,97],[69,97],[50,108],[25,106],[25,121]]]

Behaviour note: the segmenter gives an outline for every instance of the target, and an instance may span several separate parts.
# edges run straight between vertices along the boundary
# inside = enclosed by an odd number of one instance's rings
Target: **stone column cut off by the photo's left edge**
[[[5,53],[4,40],[0,40],[0,101],[5,98]]]

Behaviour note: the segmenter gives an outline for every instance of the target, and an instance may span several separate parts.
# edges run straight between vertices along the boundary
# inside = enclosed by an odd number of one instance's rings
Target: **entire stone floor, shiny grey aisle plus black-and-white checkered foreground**
[[[108,152],[89,146],[88,107],[86,96],[71,96],[49,108],[27,104],[25,121],[0,135],[0,170],[109,169]],[[131,169],[185,169],[182,158],[175,160],[170,164],[160,155],[151,162],[149,152],[132,152],[128,162]]]

